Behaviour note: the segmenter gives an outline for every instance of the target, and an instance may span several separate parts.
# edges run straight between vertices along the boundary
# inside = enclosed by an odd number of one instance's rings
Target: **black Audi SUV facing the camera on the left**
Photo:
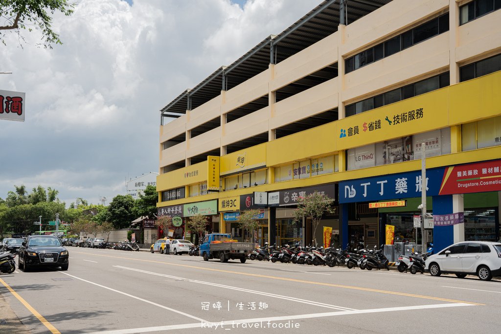
[[[33,266],[68,270],[69,254],[55,235],[30,235],[19,249],[18,267],[25,272]]]

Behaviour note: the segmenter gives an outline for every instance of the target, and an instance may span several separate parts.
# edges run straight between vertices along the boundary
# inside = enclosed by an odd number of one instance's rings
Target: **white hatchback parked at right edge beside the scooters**
[[[501,242],[462,241],[426,259],[425,270],[432,276],[456,274],[459,278],[477,275],[481,280],[501,276]]]

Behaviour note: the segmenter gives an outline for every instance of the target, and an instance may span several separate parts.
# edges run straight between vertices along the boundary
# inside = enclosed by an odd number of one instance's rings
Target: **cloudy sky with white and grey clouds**
[[[160,109],[277,35],[321,0],[80,0],[53,16],[63,45],[8,33],[0,89],[26,92],[25,122],[0,120],[0,198],[14,185],[106,204],[158,172]]]

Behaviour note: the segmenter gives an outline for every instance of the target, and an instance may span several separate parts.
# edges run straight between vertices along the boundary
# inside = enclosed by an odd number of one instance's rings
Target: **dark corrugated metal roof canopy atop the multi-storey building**
[[[224,90],[231,89],[266,71],[270,63],[280,63],[335,33],[340,24],[340,1],[343,0],[324,0],[281,34],[271,35],[228,67],[220,67],[193,89],[181,93],[160,110],[162,121],[164,117],[185,114],[186,110],[192,110],[220,95],[223,87]],[[344,0],[347,23],[350,24],[389,2],[391,0]],[[270,55],[272,50],[273,58]]]

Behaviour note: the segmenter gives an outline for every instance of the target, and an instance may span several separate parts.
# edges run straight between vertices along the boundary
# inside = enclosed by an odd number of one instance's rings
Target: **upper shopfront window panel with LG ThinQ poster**
[[[426,157],[450,153],[450,128],[349,149],[348,170],[421,159],[423,146]]]

